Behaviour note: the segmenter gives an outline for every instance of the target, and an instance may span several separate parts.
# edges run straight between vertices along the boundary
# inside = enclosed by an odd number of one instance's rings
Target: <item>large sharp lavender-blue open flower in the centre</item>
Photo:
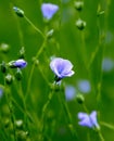
[[[55,74],[56,81],[61,80],[64,77],[71,77],[75,73],[72,70],[73,64],[68,60],[61,57],[54,57],[50,63],[50,67]]]

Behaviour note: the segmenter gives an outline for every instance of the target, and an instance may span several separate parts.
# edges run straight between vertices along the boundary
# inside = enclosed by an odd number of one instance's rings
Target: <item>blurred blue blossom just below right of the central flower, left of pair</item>
[[[76,97],[76,89],[73,86],[66,86],[65,88],[65,99],[66,101],[72,101]]]

